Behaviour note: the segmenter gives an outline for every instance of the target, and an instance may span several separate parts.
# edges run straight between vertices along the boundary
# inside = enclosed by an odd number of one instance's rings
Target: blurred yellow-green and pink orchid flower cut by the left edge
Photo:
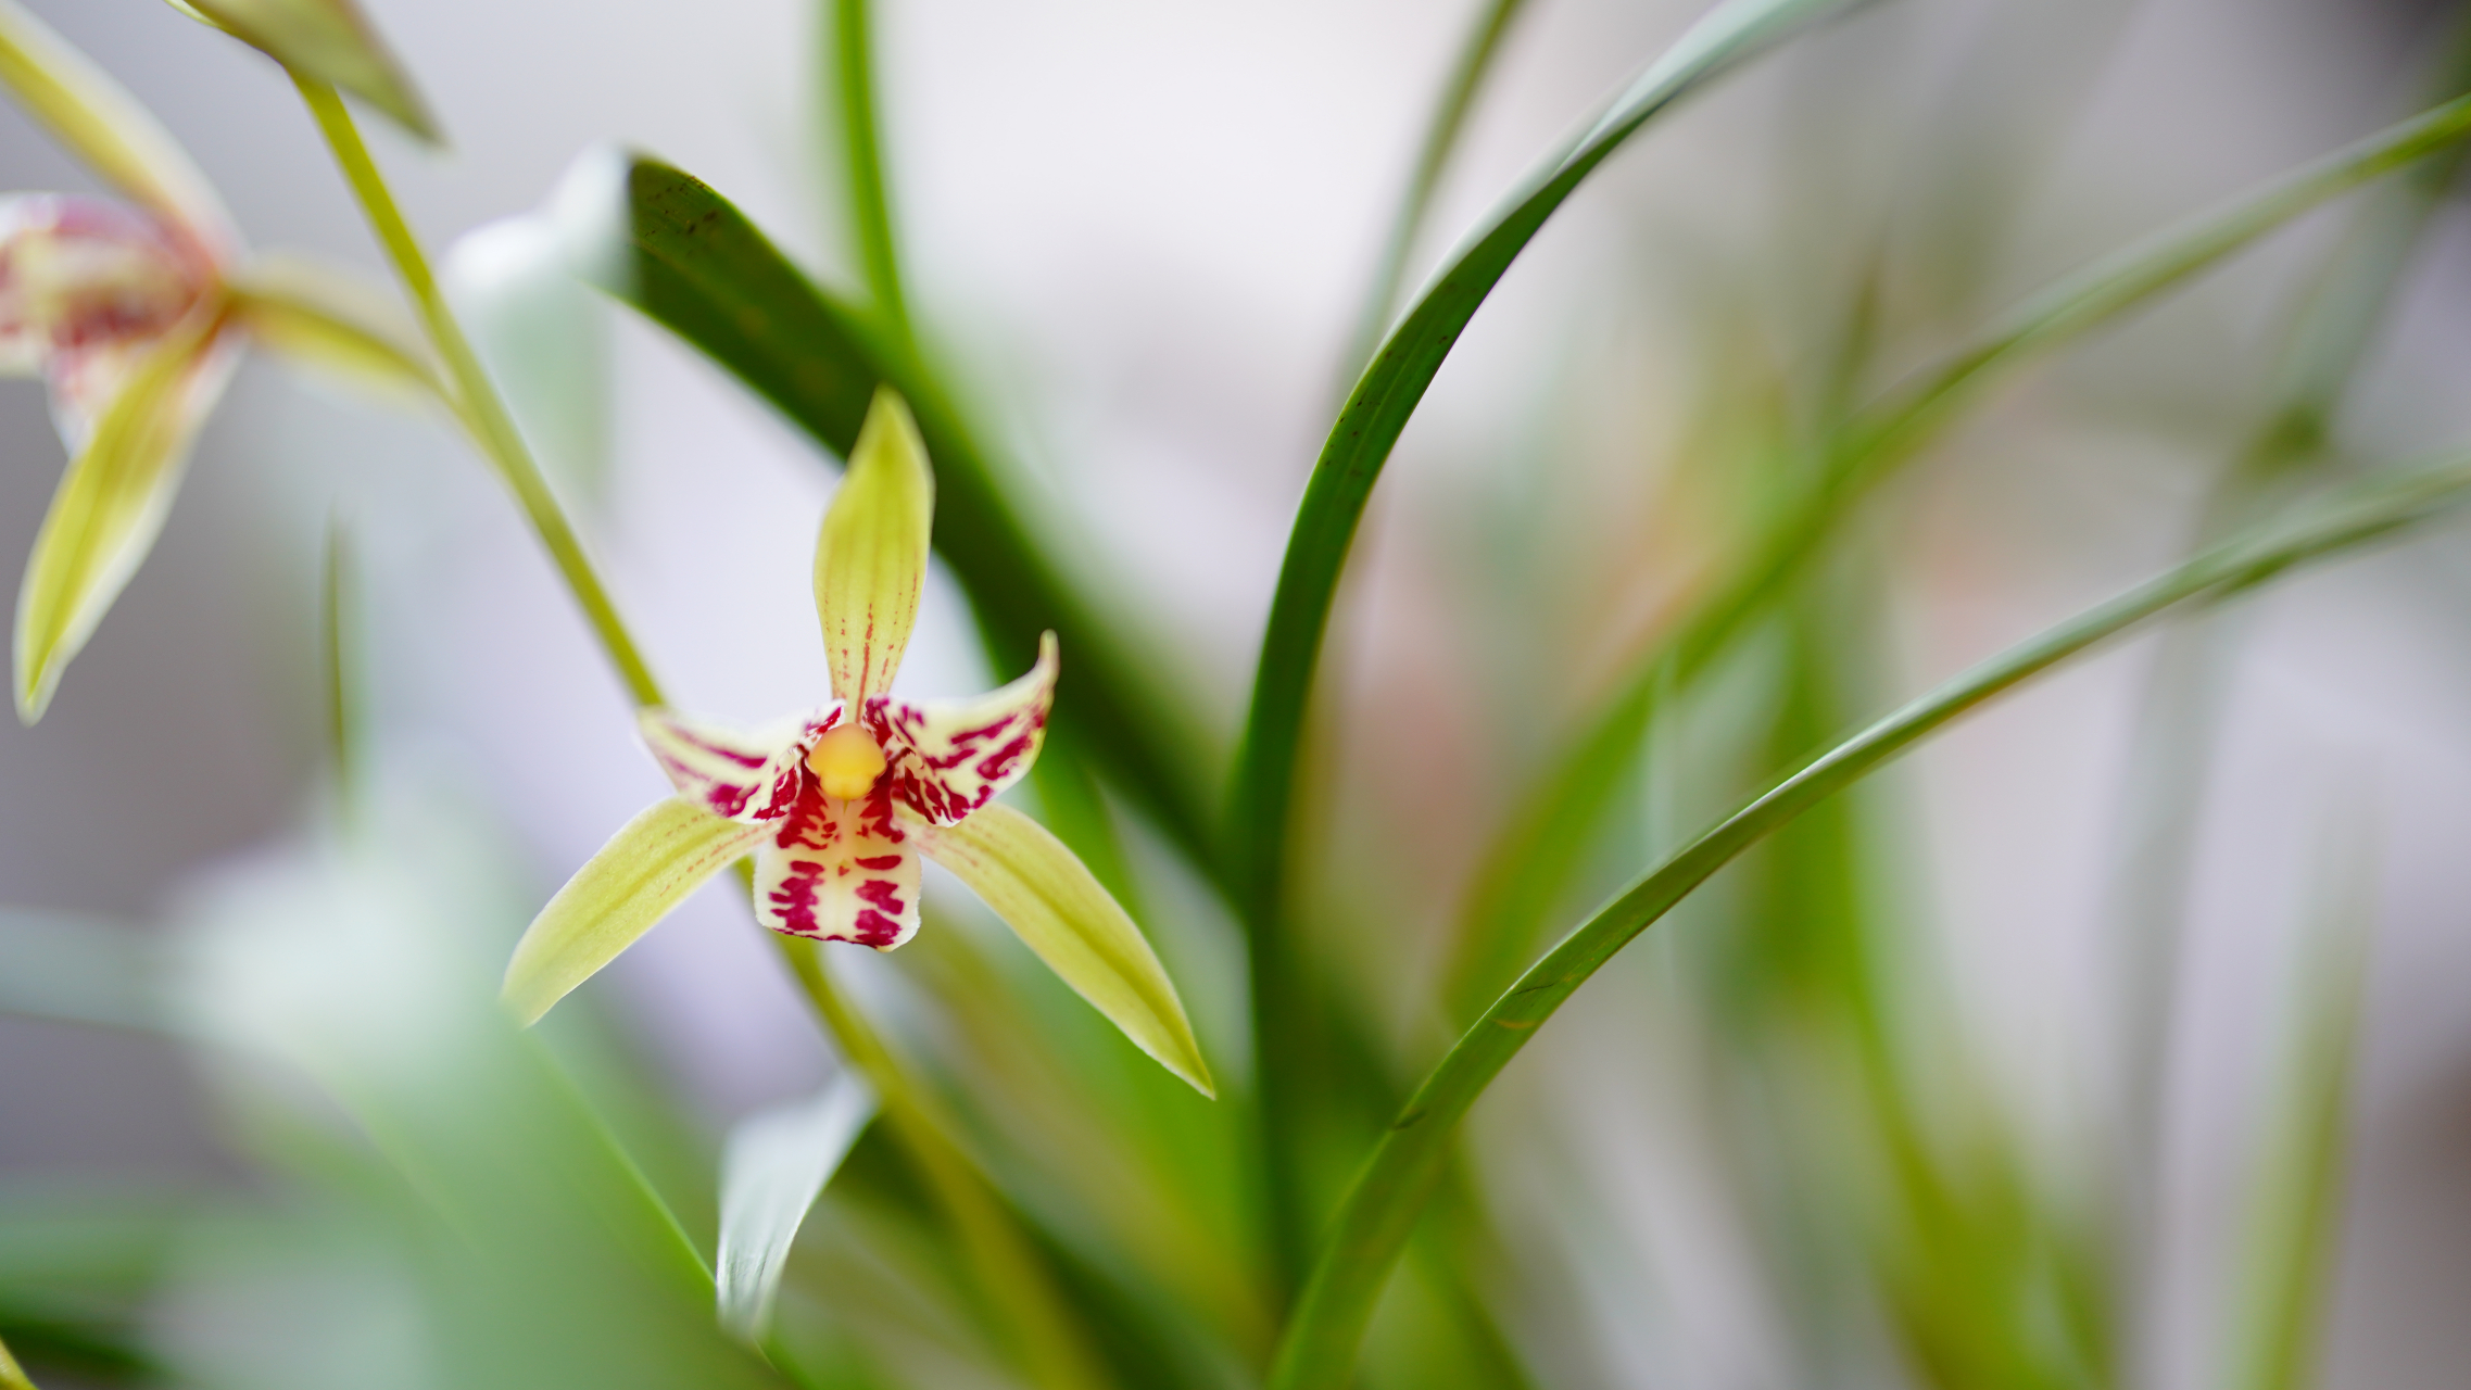
[[[178,141],[82,52],[0,0],[0,81],[126,200],[0,195],[0,370],[42,375],[69,447],[17,593],[17,716],[136,573],[242,338],[390,390],[435,390],[383,296],[306,262],[245,262]]]

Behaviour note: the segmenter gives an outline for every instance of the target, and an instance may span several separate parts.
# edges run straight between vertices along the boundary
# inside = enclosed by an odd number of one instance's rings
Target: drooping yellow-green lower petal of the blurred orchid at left
[[[17,590],[17,718],[25,723],[42,718],[59,672],[163,528],[198,425],[237,358],[220,326],[220,314],[200,311],[146,353],[52,494]]]

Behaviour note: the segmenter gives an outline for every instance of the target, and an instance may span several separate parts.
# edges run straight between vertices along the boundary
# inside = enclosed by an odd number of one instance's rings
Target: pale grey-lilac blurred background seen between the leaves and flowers
[[[381,274],[272,64],[153,0],[35,10],[180,133],[257,247]],[[432,247],[536,207],[615,141],[694,170],[828,281],[855,279],[813,5],[368,10],[452,138],[432,153],[373,133]],[[882,5],[917,314],[1072,563],[1221,741],[1460,10]],[[1534,0],[1416,269],[1695,12]],[[1621,153],[1512,269],[1408,430],[1324,667],[1317,921],[1399,1052],[1431,1042],[1436,941],[1507,797],[1722,543],[1712,439],[1791,432],[1856,286],[1893,323],[1875,365],[1893,378],[2053,274],[2422,106],[2451,22],[2451,5],[2404,0],[1883,0]],[[89,185],[0,111],[0,188]],[[2340,232],[2340,210],[2310,217],[2031,373],[1890,489],[1846,578],[1868,595],[1863,711],[2184,551]],[[823,699],[806,573],[830,459],[588,294],[526,323],[549,336],[497,338],[497,365],[672,691],[739,718]],[[2471,242],[2446,205],[2340,415],[2345,457],[2461,447],[2464,380]],[[0,383],[0,568],[30,548],[59,464],[40,388]],[[353,538],[381,758],[455,788],[536,896],[662,793],[563,590],[447,425],[252,360],[54,711],[0,726],[0,904],[153,931],[299,837],[321,795],[331,521]],[[1947,1000],[1935,1047],[2021,1133],[2100,1148],[2118,1052],[2165,1049],[2152,1385],[2219,1375],[2239,1192],[2328,844],[2367,864],[2375,926],[2325,1383],[2439,1390],[2471,1365],[2466,615],[2471,548],[2434,536],[2221,620],[2229,694],[2187,805],[2145,778],[2170,753],[2137,741],[2152,639],[1999,704],[1880,793],[1903,825],[1883,879],[1913,970]],[[1008,674],[983,669],[939,580],[902,684]],[[1643,785],[1633,867],[1722,800]],[[2167,827],[2155,805],[2177,807]],[[2120,1025],[2120,938],[2145,921],[2123,894],[2140,844],[2172,827],[2194,854],[2187,953],[2152,1042]],[[1196,960],[1233,955],[1206,899],[1164,901],[1191,916],[1174,931]],[[1547,1338],[1544,1383],[1836,1383],[1809,1380],[1727,1254],[1727,1160],[1698,1138],[1720,1104],[1693,1062],[1722,1030],[1688,1022],[1685,997],[1693,931],[1715,923],[1658,931],[1478,1116],[1497,1210],[1534,1232],[1507,1301],[1572,1333]],[[830,1069],[724,891],[596,990],[712,1131]],[[1203,1032],[1231,1037],[1226,983],[1186,990]],[[0,1190],[259,1180],[180,1047],[0,1015]]]

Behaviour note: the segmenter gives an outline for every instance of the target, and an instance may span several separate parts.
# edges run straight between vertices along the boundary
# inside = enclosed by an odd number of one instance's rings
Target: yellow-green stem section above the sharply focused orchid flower
[[[524,435],[514,427],[514,415],[507,412],[507,402],[499,400],[497,385],[489,373],[482,370],[479,356],[472,353],[472,343],[465,341],[462,326],[455,323],[455,314],[447,309],[445,294],[437,289],[437,277],[430,272],[427,257],[420,252],[420,239],[413,237],[413,227],[403,220],[395,207],[395,195],[385,188],[385,175],[378,173],[378,163],[368,156],[368,146],[361,141],[361,128],[353,126],[351,111],[343,99],[336,96],[334,86],[324,81],[311,81],[294,74],[294,84],[301,89],[301,101],[309,104],[309,114],[316,116],[319,133],[326,136],[326,148],[334,151],[334,163],[341,165],[343,180],[351,185],[353,198],[361,200],[361,212],[368,217],[371,230],[378,235],[378,244],[385,247],[385,257],[395,262],[395,274],[403,279],[403,289],[413,296],[413,309],[420,314],[423,328],[427,328],[430,346],[447,368],[450,405],[462,420],[472,442],[479,444],[482,457],[497,469],[497,477],[514,491],[516,506],[524,509],[524,518],[531,521],[531,531],[549,548],[551,563],[558,565],[558,575],[566,578],[568,593],[583,607],[583,620],[591,622],[593,637],[600,639],[600,649],[608,654],[610,664],[618,667],[618,679],[625,681],[635,704],[665,704],[660,696],[660,681],[652,679],[652,669],[645,664],[642,654],[635,649],[635,639],[628,637],[625,622],[618,617],[618,605],[610,602],[605,588],[600,588],[600,575],[593,573],[591,558],[583,553],[583,543],[576,538],[576,528],[568,526],[566,511],[558,506],[558,496],[549,489],[549,479],[541,477],[541,467],[531,459],[531,449],[524,444]]]

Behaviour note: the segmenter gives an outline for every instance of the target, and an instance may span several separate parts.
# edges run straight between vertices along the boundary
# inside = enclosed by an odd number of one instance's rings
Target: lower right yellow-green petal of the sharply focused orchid
[[[1203,1096],[1218,1094],[1166,968],[1063,839],[1008,805],[991,805],[961,825],[917,825],[917,832],[937,864],[969,884],[1134,1047]]]

